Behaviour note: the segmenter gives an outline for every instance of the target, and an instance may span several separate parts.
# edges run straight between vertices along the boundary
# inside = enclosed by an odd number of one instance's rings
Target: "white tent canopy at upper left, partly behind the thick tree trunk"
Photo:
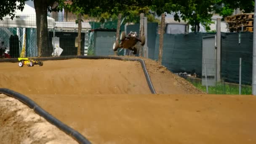
[[[3,21],[0,21],[0,27],[37,28],[35,8],[25,4],[23,11],[21,12],[20,10],[16,10],[15,15],[19,16],[19,18],[14,17],[13,20],[11,20],[11,16],[5,16]],[[48,29],[52,29],[54,27],[55,20],[47,16],[47,21]]]

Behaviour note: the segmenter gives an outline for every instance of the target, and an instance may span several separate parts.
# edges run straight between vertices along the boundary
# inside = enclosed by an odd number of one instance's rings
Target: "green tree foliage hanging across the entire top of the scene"
[[[2,20],[7,15],[13,19],[15,11],[17,9],[22,11],[26,1],[1,0],[0,19]],[[225,17],[231,15],[236,8],[242,9],[245,13],[254,11],[254,0],[68,0],[72,3],[67,3],[67,0],[37,1],[46,5],[50,12],[61,11],[65,8],[77,15],[81,13],[85,16],[96,17],[101,22],[117,19],[118,13],[126,17],[125,22],[134,23],[139,22],[140,13],[144,13],[148,21],[155,21],[154,14],[160,16],[162,13],[169,13],[174,15],[176,21],[180,19],[188,21],[192,25],[192,30],[195,31],[199,31],[199,24],[203,24],[206,30],[209,30],[209,24],[213,23],[211,21],[213,13],[219,13]],[[16,5],[16,2],[19,4]],[[58,6],[53,8],[56,3]],[[222,3],[224,7],[219,7]]]

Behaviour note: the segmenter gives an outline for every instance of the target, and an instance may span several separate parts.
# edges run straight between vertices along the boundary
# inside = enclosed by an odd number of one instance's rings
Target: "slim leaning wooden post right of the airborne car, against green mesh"
[[[159,55],[158,55],[158,64],[160,64],[160,65],[162,65],[164,31],[165,31],[165,13],[162,13],[160,36],[159,36]]]

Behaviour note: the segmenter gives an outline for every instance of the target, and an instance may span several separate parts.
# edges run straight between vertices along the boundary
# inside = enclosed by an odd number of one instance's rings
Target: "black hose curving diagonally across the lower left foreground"
[[[52,115],[50,115],[48,112],[46,112],[44,109],[42,109],[39,105],[37,105],[34,101],[29,99],[27,96],[24,96],[18,92],[12,91],[7,88],[0,88],[0,93],[3,93],[7,96],[11,96],[15,99],[18,99],[19,101],[23,102],[27,106],[29,106],[31,109],[34,109],[34,111],[40,115],[41,117],[45,118],[48,122],[52,123],[61,131],[64,131],[69,136],[72,136],[78,143],[80,144],[91,144],[90,141],[88,141],[83,135],[75,131],[74,129],[70,128],[69,126],[65,125]]]

